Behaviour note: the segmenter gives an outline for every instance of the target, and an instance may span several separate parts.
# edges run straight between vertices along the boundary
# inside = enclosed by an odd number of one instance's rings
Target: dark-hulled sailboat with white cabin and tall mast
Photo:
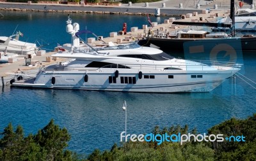
[[[216,50],[216,46],[224,44],[227,48],[220,46],[219,51],[232,51],[232,52],[255,52],[256,51],[256,37],[252,34],[237,36],[234,16],[234,0],[231,1],[230,18],[232,24],[228,36],[212,36],[207,38],[206,31],[179,31],[175,36],[170,36],[168,31],[154,31],[146,37],[147,45],[153,44],[161,49],[183,52],[184,54],[190,53],[211,53]],[[199,23],[199,22],[173,22],[175,24],[186,25],[212,25],[214,23]],[[225,24],[218,24],[225,27]],[[214,34],[217,34],[215,32]],[[219,32],[221,35],[222,33]],[[145,42],[145,40],[143,40]],[[231,46],[231,47],[230,47]],[[192,51],[192,52],[191,52]]]

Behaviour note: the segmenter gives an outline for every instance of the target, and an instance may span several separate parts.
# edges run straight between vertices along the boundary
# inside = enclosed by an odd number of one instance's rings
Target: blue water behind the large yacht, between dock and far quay
[[[0,35],[10,36],[16,31],[24,34],[21,41],[40,43],[44,48],[53,50],[57,43],[71,43],[71,36],[66,32],[66,21],[68,13],[42,13],[42,12],[17,12],[1,11],[4,17],[0,17]],[[97,36],[109,37],[109,32],[122,31],[123,23],[127,23],[127,32],[131,27],[139,27],[148,24],[147,16],[132,15],[95,15],[95,14],[70,14],[72,22],[80,25],[80,30],[87,29]],[[152,22],[163,23],[164,18],[150,17]],[[4,25],[2,25],[4,24]],[[8,27],[5,25],[8,24]],[[15,32],[16,33],[16,32]],[[93,37],[88,34],[87,38]],[[84,37],[85,39],[85,37]],[[37,44],[38,45],[38,44]]]

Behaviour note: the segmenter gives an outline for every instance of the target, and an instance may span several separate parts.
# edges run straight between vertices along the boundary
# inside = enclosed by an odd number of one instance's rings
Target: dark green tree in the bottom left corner
[[[80,160],[75,153],[65,150],[70,140],[67,129],[51,120],[35,136],[24,137],[20,125],[13,131],[12,123],[1,133],[0,160]]]

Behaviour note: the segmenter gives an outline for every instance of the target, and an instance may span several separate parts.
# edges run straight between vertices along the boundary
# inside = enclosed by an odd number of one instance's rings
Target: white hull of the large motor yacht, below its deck
[[[140,79],[139,71],[131,73],[127,69],[118,69],[119,74],[117,78],[114,69],[111,72],[72,71],[72,73],[68,73],[67,71],[54,71],[54,73],[40,73],[36,80],[20,80],[14,82],[12,85],[26,88],[60,88],[118,92],[210,92],[233,75],[231,70],[220,71],[219,73],[213,73],[211,71],[204,71],[202,73],[198,73],[198,71],[172,71],[172,73],[169,71],[158,71],[157,73],[141,72],[143,76]],[[84,81],[85,75],[88,76],[87,82]],[[200,78],[191,78],[192,75]],[[52,83],[52,78],[54,78],[54,83]]]

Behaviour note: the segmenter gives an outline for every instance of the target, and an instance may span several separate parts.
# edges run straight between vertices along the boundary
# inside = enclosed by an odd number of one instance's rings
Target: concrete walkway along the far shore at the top
[[[85,5],[81,4],[72,5],[72,4],[28,4],[28,3],[0,3],[0,9],[3,8],[20,8],[26,10],[58,10],[58,11],[101,11],[101,12],[112,12],[112,13],[145,13],[145,14],[154,14],[156,13],[156,8],[161,9],[161,13],[165,15],[182,15],[186,13],[193,13],[197,11],[202,13],[202,10],[210,9],[214,10],[213,5],[209,4],[211,1],[205,0],[163,0],[153,3],[148,3],[148,7],[145,7],[145,3],[135,3],[132,6],[129,4],[122,4],[122,6],[103,6],[103,5]],[[163,7],[163,3],[165,7]],[[182,8],[179,7],[179,4],[182,3]],[[196,4],[200,4],[200,8],[196,8]],[[222,10],[218,8],[218,10]],[[227,10],[227,8],[223,9]],[[106,13],[105,13],[106,14]]]

